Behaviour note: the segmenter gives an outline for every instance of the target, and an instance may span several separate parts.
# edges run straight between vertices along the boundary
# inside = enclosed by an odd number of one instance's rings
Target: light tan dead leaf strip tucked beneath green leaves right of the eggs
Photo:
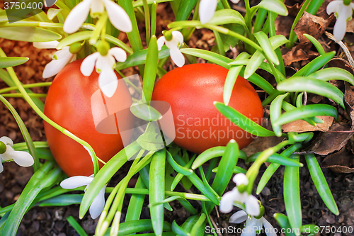
[[[317,116],[321,120],[324,120],[324,123],[319,123],[314,125],[310,125],[304,120],[295,120],[293,122],[282,125],[282,129],[285,133],[287,132],[312,132],[312,131],[328,131],[331,127],[334,118],[331,116]]]

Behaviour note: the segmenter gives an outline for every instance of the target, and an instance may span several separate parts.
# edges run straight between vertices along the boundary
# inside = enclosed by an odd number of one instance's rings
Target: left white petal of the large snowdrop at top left
[[[89,16],[92,0],[84,0],[77,4],[64,21],[63,30],[66,33],[74,33],[82,26]]]

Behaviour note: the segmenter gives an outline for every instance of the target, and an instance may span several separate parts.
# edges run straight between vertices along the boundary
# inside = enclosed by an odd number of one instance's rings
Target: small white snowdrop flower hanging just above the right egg
[[[178,67],[183,67],[185,59],[182,52],[179,50],[179,47],[181,47],[183,43],[183,35],[179,31],[172,31],[171,35],[171,40],[167,40],[165,36],[161,36],[157,40],[157,46],[159,47],[159,50],[161,50],[162,46],[166,44],[170,50],[171,60],[173,60]]]

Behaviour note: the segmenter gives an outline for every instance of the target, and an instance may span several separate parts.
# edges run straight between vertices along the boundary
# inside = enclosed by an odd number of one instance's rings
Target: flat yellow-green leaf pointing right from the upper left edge
[[[8,40],[26,42],[48,42],[62,38],[58,33],[38,27],[4,27],[0,28],[0,35]]]

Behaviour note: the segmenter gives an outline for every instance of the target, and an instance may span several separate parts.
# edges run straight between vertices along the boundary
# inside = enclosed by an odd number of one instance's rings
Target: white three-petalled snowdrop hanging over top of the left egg
[[[96,72],[100,74],[98,85],[103,94],[109,98],[113,96],[118,86],[118,78],[113,69],[115,60],[125,62],[127,53],[119,47],[110,48],[104,56],[100,52],[94,52],[84,59],[80,67],[81,73],[86,77],[89,77],[96,67]]]

